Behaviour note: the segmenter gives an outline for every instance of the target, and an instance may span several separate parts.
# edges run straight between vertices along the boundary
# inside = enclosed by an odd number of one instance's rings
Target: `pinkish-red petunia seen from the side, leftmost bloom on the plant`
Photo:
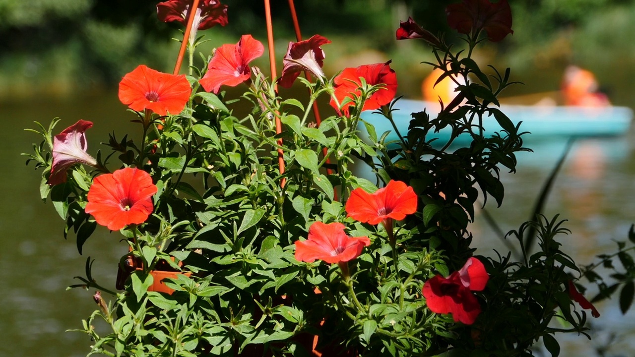
[[[58,185],[66,182],[67,170],[76,163],[97,165],[97,161],[86,153],[86,130],[91,126],[92,122],[79,120],[53,137],[53,164],[47,184]]]

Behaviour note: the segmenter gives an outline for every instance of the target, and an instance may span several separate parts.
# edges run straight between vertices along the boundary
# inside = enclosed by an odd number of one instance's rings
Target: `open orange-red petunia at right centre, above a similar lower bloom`
[[[385,219],[403,220],[406,215],[417,211],[417,200],[412,187],[391,180],[373,194],[361,187],[354,189],[346,201],[346,213],[352,219],[373,225]]]

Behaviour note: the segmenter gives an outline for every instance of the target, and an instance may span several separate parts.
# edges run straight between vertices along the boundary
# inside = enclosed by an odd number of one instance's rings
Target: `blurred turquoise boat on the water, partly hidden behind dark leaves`
[[[392,113],[395,125],[402,135],[408,132],[408,125],[413,112],[425,111],[431,118],[436,118],[439,111],[438,103],[424,102],[422,100],[400,99],[394,105],[399,109]],[[522,122],[519,132],[529,132],[523,135],[524,140],[568,137],[607,137],[623,135],[629,131],[633,112],[628,107],[566,107],[561,105],[500,105],[500,111],[511,119],[514,125]],[[391,123],[378,112],[366,111],[361,118],[375,126],[378,136],[385,131],[391,131],[387,140],[397,140]],[[360,130],[365,131],[363,124]],[[483,118],[485,135],[492,135],[495,131],[501,131],[500,125],[493,116]],[[438,133],[429,133],[427,140],[438,138],[437,142],[445,142],[450,139],[451,128],[446,127]],[[504,133],[501,133],[504,135]],[[456,144],[467,142],[471,137],[467,134],[460,135]]]

